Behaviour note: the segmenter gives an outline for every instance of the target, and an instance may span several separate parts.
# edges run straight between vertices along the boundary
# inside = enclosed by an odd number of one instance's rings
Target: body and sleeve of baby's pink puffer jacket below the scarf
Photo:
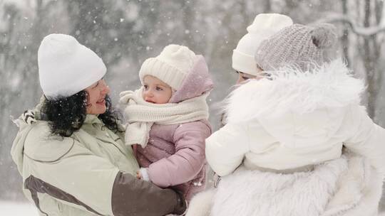
[[[150,180],[162,188],[180,190],[187,200],[205,189],[205,139],[210,136],[207,121],[185,124],[154,124],[150,140],[136,156],[141,167],[148,168]]]

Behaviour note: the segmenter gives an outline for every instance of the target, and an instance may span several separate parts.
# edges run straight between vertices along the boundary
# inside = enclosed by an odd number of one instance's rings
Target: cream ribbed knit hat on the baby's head
[[[179,90],[195,60],[196,55],[189,48],[170,44],[157,57],[145,60],[139,71],[140,82],[143,84],[145,75],[152,75]]]

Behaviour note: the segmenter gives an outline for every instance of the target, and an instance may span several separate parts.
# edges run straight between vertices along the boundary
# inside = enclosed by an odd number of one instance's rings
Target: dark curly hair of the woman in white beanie
[[[86,119],[88,92],[83,90],[70,97],[58,97],[46,99],[41,112],[46,115],[51,128],[51,134],[60,136],[71,136],[74,131],[81,129]],[[119,112],[111,105],[111,98],[106,95],[106,112],[98,115],[98,119],[112,131],[120,131],[118,121]]]

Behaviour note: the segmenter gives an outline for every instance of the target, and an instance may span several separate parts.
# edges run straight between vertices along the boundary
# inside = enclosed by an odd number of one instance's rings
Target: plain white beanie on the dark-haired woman
[[[38,51],[39,80],[48,99],[69,97],[101,80],[103,60],[72,36],[50,34]]]

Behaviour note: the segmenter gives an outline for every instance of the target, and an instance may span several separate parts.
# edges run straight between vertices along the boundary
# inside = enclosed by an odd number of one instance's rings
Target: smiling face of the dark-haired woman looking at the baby
[[[87,98],[87,114],[103,114],[106,112],[106,95],[110,92],[110,88],[106,82],[101,79],[90,87],[86,88],[88,92]]]

